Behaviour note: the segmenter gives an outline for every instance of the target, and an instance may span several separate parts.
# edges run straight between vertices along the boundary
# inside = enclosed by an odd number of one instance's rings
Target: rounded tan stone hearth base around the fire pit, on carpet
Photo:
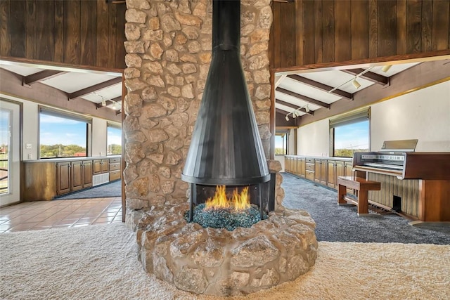
[[[187,223],[188,208],[153,207],[137,228],[143,268],[179,289],[244,295],[295,280],[314,266],[316,223],[307,211],[272,211],[269,219],[230,232]]]

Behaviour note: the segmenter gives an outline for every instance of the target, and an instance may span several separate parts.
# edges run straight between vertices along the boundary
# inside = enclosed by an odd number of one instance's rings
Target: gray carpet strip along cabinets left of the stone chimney
[[[86,190],[79,190],[74,193],[65,194],[54,197],[55,200],[72,200],[72,199],[86,199],[86,198],[108,198],[122,196],[122,181],[113,181],[102,185],[94,186],[94,188],[87,188]]]

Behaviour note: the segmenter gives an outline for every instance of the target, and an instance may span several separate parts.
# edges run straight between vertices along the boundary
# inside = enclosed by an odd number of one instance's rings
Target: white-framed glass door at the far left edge
[[[20,200],[20,107],[0,100],[0,207]]]

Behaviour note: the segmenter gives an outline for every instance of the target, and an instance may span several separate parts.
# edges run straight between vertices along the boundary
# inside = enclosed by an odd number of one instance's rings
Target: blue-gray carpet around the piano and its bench
[[[338,205],[338,193],[322,185],[283,173],[288,208],[305,209],[316,221],[316,237],[327,242],[401,242],[450,244],[450,223],[409,225],[397,214],[358,216],[356,206]]]

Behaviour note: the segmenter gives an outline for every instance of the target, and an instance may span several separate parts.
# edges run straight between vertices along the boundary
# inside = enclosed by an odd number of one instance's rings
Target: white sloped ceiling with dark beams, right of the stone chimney
[[[429,66],[427,67],[427,64]],[[421,66],[421,67],[420,67]],[[383,64],[328,67],[317,70],[292,70],[275,73],[276,133],[283,135],[290,128],[342,113],[342,103],[360,100],[361,95],[371,102],[394,95],[380,91],[402,93],[405,80],[395,78],[420,77],[424,69],[432,68],[437,77],[449,78],[450,56],[425,60],[406,60]],[[356,82],[355,82],[356,80]],[[436,78],[421,79],[420,86],[432,84]],[[400,86],[394,86],[395,84]],[[413,86],[417,88],[418,86]],[[377,89],[378,88],[378,89]],[[410,88],[409,88],[410,89]],[[371,93],[373,91],[373,93]],[[370,102],[368,102],[370,103]],[[358,103],[354,103],[357,107]],[[347,105],[350,106],[350,105]],[[328,112],[324,113],[323,110]],[[316,115],[320,112],[320,117]]]

